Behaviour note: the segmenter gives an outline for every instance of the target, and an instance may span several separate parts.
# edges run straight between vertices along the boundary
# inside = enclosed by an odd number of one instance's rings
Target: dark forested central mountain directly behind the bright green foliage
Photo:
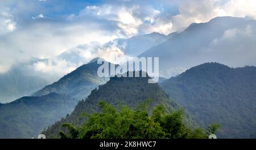
[[[80,126],[85,120],[81,114],[97,111],[98,102],[101,100],[113,105],[121,103],[134,108],[134,106],[150,98],[152,100],[150,106],[162,102],[168,110],[179,108],[179,105],[168,97],[157,83],[149,84],[148,79],[148,76],[147,78],[118,78],[117,76],[110,78],[106,84],[100,85],[85,100],[80,101],[68,117],[50,126],[43,134],[46,134],[47,138],[57,138],[59,131],[62,130],[61,125],[65,122]]]

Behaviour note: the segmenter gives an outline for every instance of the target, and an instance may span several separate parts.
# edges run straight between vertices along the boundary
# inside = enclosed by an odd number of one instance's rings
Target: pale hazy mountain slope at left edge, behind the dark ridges
[[[0,85],[0,102],[6,103],[30,95],[47,85],[47,81],[38,76],[24,74],[22,65],[18,65],[0,74]]]

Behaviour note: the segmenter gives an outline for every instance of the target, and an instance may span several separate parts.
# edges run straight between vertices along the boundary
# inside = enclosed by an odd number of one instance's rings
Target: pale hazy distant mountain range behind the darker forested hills
[[[92,59],[88,55],[97,55],[97,49],[119,49],[131,57],[159,57],[160,77],[170,78],[204,62],[218,62],[230,67],[256,65],[255,34],[255,20],[217,17],[207,23],[193,23],[184,31],[167,36],[154,32],[130,38],[117,38],[103,45],[97,42],[78,45],[57,55],[55,61],[64,61],[69,69],[75,70]],[[10,102],[30,95],[60,79],[63,76],[59,75],[60,73],[48,74],[49,72],[38,72],[35,69],[35,66],[41,63],[54,65],[55,61],[32,58],[31,61],[14,65],[10,71],[1,74],[0,102]],[[15,76],[12,72],[15,72]],[[33,81],[35,85],[19,84],[26,80],[28,83]],[[26,88],[23,88],[23,85]]]

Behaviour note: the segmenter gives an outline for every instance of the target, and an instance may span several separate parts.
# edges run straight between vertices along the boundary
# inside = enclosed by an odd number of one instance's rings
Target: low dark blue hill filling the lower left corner
[[[0,105],[0,138],[36,138],[44,127],[71,113],[77,104],[67,95],[22,97]]]

